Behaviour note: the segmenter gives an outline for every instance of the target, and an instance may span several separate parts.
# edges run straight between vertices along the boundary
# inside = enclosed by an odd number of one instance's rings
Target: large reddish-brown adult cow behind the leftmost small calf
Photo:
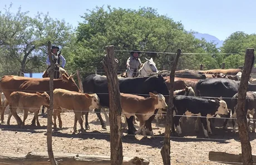
[[[81,92],[77,87],[76,82],[73,79],[75,74],[71,74],[70,77],[62,74],[62,79],[53,79],[53,89],[63,88],[70,91]],[[0,86],[6,97],[4,105],[1,112],[1,121],[4,123],[4,110],[8,106],[9,96],[14,91],[22,91],[28,93],[39,92],[49,92],[49,81],[50,78],[29,78],[29,77],[19,77],[19,76],[3,76],[0,80]],[[50,94],[50,93],[48,93]]]

